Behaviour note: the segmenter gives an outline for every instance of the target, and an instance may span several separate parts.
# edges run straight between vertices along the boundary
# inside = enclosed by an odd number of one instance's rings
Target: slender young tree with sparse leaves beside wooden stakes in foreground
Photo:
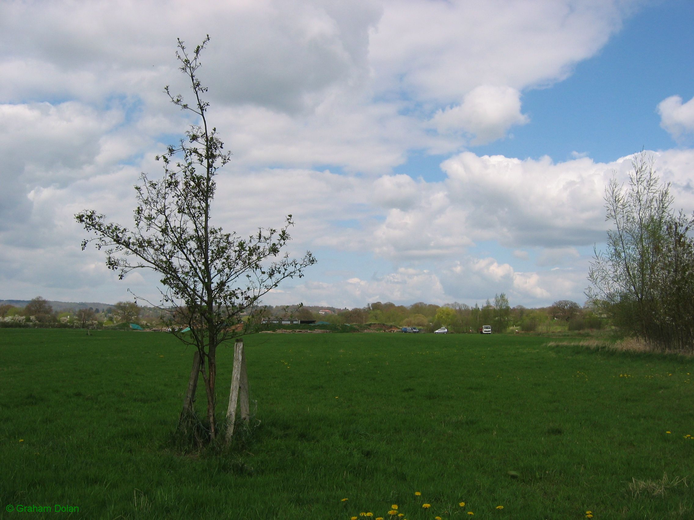
[[[282,252],[289,241],[291,215],[278,229],[260,228],[251,236],[224,232],[212,225],[212,201],[219,168],[230,160],[217,130],[210,125],[205,101],[207,87],[198,79],[200,55],[210,37],[188,53],[178,40],[176,58],[192,89],[192,101],[180,94],[164,92],[171,103],[192,112],[196,123],[189,126],[178,145],[168,146],[156,159],[163,175],[146,173],[135,186],[135,222],[124,227],[107,222],[103,214],[85,210],[76,220],[95,236],[85,239],[105,250],[106,265],[123,279],[128,272],[149,268],[160,276],[161,304],[171,331],[187,345],[196,347],[186,400],[178,423],[179,431],[196,432],[198,442],[217,437],[215,383],[217,349],[236,336],[252,331],[253,309],[260,298],[283,279],[303,276],[316,262],[310,252],[292,259]],[[242,321],[242,317],[251,319]],[[188,330],[186,330],[188,329]],[[194,393],[202,376],[207,396],[206,420],[193,409]],[[204,426],[200,428],[191,426]]]

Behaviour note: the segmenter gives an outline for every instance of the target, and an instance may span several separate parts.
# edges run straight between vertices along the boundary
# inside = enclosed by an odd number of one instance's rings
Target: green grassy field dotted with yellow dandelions
[[[248,337],[255,426],[219,455],[171,443],[192,359],[174,338],[0,329],[0,517],[694,518],[694,363],[546,343]]]

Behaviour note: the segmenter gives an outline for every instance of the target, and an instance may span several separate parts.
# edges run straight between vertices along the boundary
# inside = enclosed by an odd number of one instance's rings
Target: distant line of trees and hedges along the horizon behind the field
[[[511,307],[505,293],[487,299],[482,306],[452,302],[441,306],[416,302],[396,305],[393,302],[373,302],[353,309],[334,306],[262,305],[253,311],[254,319],[307,320],[330,324],[382,323],[395,327],[418,327],[434,331],[447,327],[455,333],[477,333],[482,325],[491,325],[494,332],[514,329],[524,332],[547,332],[557,329],[580,331],[602,329],[608,320],[593,305],[580,306],[570,300],[559,300],[548,307],[527,309],[523,305]],[[164,321],[166,317],[164,316]],[[0,305],[0,326],[68,326],[92,327],[137,323],[161,327],[162,311],[154,307],[138,306],[135,302],[117,302],[103,309],[78,308],[53,311],[51,304],[38,296],[24,308]]]

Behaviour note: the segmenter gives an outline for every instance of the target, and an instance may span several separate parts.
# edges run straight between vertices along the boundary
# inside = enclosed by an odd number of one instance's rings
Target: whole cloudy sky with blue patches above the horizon
[[[645,148],[694,209],[694,4],[278,0],[0,5],[0,299],[155,298],[79,248],[128,224],[141,171],[191,121],[176,37],[232,162],[214,217],[294,214],[319,263],[271,304],[583,303],[602,193]]]

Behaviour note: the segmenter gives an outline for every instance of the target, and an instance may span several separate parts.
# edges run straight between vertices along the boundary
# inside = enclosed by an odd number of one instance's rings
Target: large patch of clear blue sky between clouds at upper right
[[[694,3],[662,1],[627,17],[597,55],[546,89],[523,93],[532,123],[513,139],[475,148],[509,157],[549,155],[562,161],[572,152],[609,162],[648,148],[675,146],[660,128],[656,107],[664,98],[694,96]],[[688,144],[692,144],[688,139]]]

